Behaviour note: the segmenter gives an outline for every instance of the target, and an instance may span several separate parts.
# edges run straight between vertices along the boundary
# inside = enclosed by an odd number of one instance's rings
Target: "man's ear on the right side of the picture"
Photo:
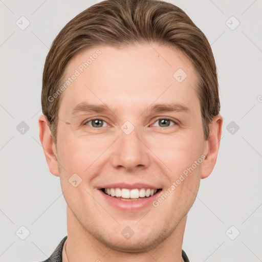
[[[217,154],[219,153],[220,140],[222,134],[223,117],[219,114],[213,117],[209,124],[209,138],[205,141],[203,154],[206,156],[202,162],[201,178],[207,178],[214,169]]]

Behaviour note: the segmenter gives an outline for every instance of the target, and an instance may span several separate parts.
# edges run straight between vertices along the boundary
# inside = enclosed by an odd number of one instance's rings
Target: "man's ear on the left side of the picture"
[[[56,146],[49,128],[49,121],[45,115],[41,115],[38,119],[39,138],[45,153],[49,170],[54,176],[59,177],[59,169],[57,162]]]

